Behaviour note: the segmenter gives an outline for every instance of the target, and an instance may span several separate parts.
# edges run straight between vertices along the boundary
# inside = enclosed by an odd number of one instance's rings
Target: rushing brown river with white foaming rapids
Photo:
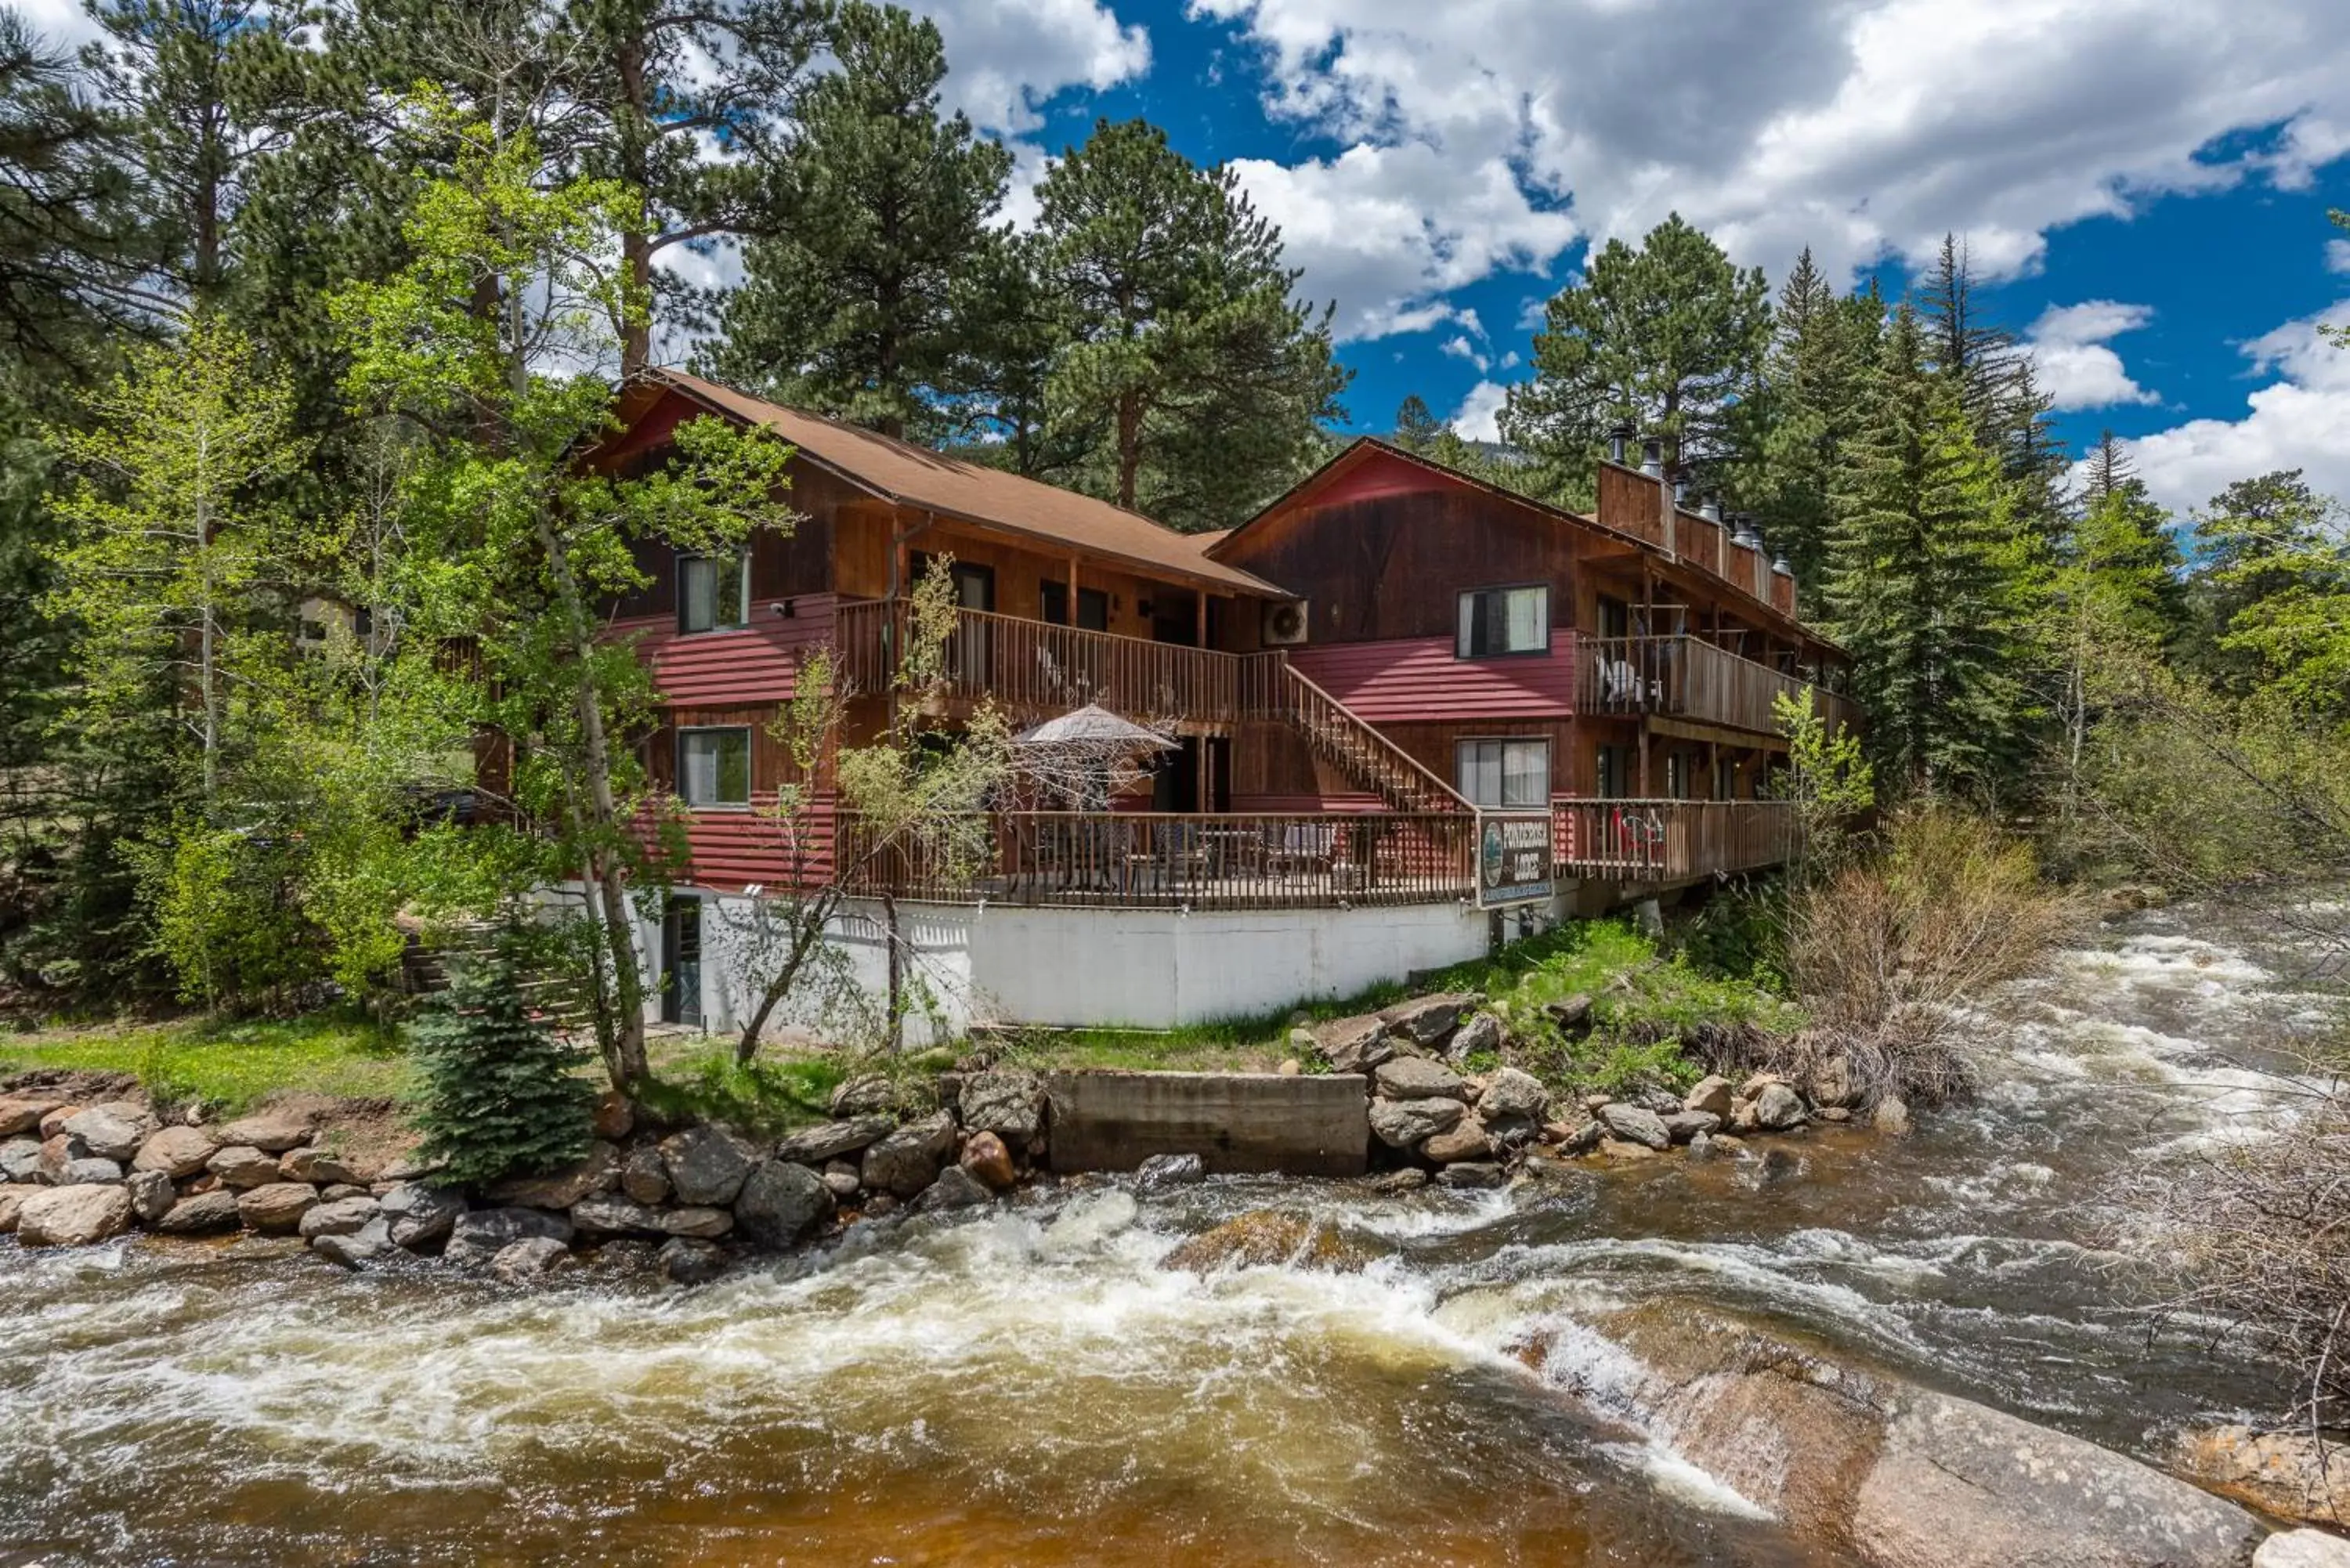
[[[1650,1439],[1591,1324],[1711,1300],[2141,1458],[2265,1413],[2249,1359],[2148,1342],[2099,1248],[2117,1171],[2291,1114],[2240,1058],[2308,1006],[2216,917],[2138,914],[1981,1025],[1981,1103],[1793,1171],[1100,1182],[684,1293],[9,1241],[0,1568],[1842,1563]],[[1262,1206],[1375,1262],[1159,1267]]]

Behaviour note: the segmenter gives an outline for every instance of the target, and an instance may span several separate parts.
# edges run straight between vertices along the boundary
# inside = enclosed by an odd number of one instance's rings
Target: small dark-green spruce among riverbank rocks
[[[595,1058],[531,1018],[510,940],[458,959],[449,990],[416,1020],[423,1079],[418,1150],[451,1180],[536,1175],[588,1154]]]

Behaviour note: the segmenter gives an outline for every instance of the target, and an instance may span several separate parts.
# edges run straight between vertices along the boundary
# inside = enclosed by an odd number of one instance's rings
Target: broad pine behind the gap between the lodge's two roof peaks
[[[1093,494],[1180,529],[1231,527],[1292,484],[1344,416],[1330,313],[1290,299],[1281,230],[1231,169],[1142,120],[1102,120],[1036,186],[1067,336],[1053,430]]]

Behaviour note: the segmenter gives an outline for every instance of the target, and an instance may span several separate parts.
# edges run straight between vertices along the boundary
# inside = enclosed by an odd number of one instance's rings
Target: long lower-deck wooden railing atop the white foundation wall
[[[914,849],[872,853],[870,832],[839,823],[851,891],[938,903],[1356,907],[1452,903],[1476,879],[1476,816],[1448,811],[999,811],[989,853],[956,870]]]

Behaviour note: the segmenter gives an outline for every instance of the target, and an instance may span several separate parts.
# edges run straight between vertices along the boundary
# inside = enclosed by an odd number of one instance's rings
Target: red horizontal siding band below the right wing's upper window
[[[1450,637],[1408,637],[1295,649],[1290,663],[1370,724],[1565,719],[1574,712],[1574,635],[1560,630],[1539,658],[1455,658]]]

